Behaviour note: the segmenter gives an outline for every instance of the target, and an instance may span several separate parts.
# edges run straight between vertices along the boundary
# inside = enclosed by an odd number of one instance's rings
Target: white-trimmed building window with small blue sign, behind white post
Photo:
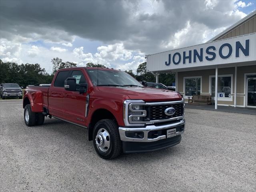
[[[211,76],[211,92],[215,97],[215,77]],[[218,100],[232,101],[232,75],[218,76]]]

